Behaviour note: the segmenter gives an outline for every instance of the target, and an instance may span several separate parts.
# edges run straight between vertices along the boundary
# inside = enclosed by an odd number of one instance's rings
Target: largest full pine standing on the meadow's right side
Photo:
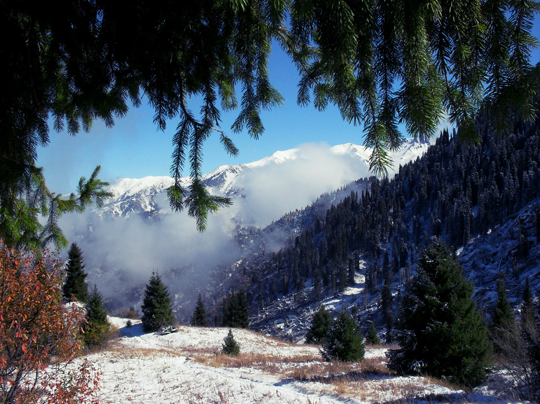
[[[424,250],[418,274],[400,303],[400,350],[388,353],[389,367],[426,373],[474,386],[491,359],[487,326],[472,301],[455,256],[441,242]]]

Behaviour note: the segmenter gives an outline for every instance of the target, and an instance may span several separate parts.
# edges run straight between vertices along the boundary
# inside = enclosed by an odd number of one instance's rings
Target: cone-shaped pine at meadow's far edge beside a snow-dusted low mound
[[[171,298],[156,271],[152,271],[150,281],[146,285],[141,311],[144,331],[157,331],[164,325],[174,322]]]

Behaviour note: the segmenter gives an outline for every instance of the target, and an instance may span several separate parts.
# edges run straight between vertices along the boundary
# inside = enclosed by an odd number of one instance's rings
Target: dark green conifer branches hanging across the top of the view
[[[37,218],[50,213],[52,193],[35,162],[38,145],[49,143],[49,122],[72,135],[90,130],[94,119],[111,127],[128,101],[140,105],[141,94],[160,130],[178,122],[168,195],[173,210],[183,210],[180,176],[187,164],[200,178],[203,144],[221,131],[218,105],[238,108],[231,130],[253,138],[264,133],[261,111],[282,105],[269,80],[273,41],[298,68],[300,105],[333,104],[344,120],[367,128],[370,166],[379,175],[403,138],[398,122],[426,138],[448,116],[458,137],[477,142],[473,123],[487,112],[504,135],[514,112],[535,116],[540,66],[530,54],[539,9],[531,0],[3,2],[0,23],[10,40],[0,48],[7,61],[0,65],[0,235],[6,243],[38,243]],[[195,96],[203,100],[198,114],[186,106]],[[103,203],[97,177],[81,185],[79,200],[59,198],[56,206]],[[203,228],[224,201],[195,191],[190,211]]]

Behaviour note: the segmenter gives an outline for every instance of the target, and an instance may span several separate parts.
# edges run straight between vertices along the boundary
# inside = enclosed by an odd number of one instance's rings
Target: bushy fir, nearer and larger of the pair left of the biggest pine
[[[362,333],[346,310],[334,319],[322,344],[321,354],[325,360],[338,359],[344,362],[362,360],[366,348]]]

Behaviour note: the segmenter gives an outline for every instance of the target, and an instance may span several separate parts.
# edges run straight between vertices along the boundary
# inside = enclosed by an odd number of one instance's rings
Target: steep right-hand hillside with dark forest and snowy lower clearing
[[[498,276],[517,304],[526,277],[540,287],[539,128],[516,123],[497,139],[479,122],[478,145],[445,132],[394,178],[371,179],[326,212],[298,212],[311,219],[291,246],[239,264],[246,270],[233,288],[249,291],[253,328],[299,340],[322,303],[353,310],[364,327],[375,321],[392,339],[399,292],[433,236],[454,246],[488,319]],[[394,308],[385,315],[384,287]]]

